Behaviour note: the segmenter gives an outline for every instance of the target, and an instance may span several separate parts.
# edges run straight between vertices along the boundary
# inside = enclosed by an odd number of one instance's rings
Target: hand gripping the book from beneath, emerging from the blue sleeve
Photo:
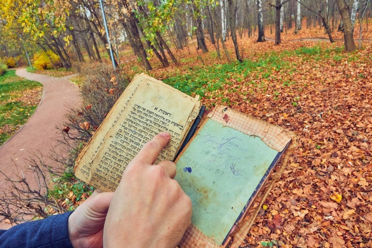
[[[68,236],[74,248],[103,247],[103,226],[112,195],[94,191],[68,217]]]

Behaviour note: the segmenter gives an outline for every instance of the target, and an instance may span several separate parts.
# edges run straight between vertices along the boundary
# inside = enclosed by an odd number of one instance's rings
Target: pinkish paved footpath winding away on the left
[[[51,164],[51,150],[62,152],[57,139],[61,137],[61,127],[64,115],[71,107],[80,103],[80,93],[76,85],[70,82],[74,75],[66,77],[51,77],[42,74],[28,73],[25,68],[16,70],[17,76],[34,80],[44,85],[41,103],[28,122],[17,131],[6,143],[0,146],[0,171],[9,178],[16,179],[17,175],[24,176],[31,186],[38,187],[32,171],[29,169],[30,159],[43,158]],[[52,165],[52,164],[51,164]],[[3,174],[0,174],[0,195],[11,192],[12,187]],[[0,223],[0,229],[10,225]]]

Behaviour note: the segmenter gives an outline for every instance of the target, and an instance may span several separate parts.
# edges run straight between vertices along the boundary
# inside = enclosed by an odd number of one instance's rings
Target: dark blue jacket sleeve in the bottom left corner
[[[72,248],[68,238],[68,217],[72,212],[56,214],[0,230],[0,248]]]

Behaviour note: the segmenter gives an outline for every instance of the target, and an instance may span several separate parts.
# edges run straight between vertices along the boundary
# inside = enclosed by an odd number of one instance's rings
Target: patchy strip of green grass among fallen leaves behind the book
[[[322,48],[320,45],[314,47],[301,47],[294,51],[283,51],[281,53],[271,52],[260,55],[256,60],[245,59],[243,63],[233,62],[230,64],[214,64],[204,67],[185,67],[182,74],[168,77],[163,82],[188,95],[196,93],[205,96],[206,92],[214,92],[232,85],[232,79],[237,82],[246,80],[246,77],[256,80],[273,81],[274,72],[292,75],[302,61],[325,61],[330,63],[341,63],[347,55],[342,48]],[[349,57],[349,60],[358,61],[358,54]],[[316,66],[315,64],[312,66]],[[276,82],[276,81],[275,81]],[[289,86],[295,82],[277,82],[283,86]],[[255,84],[253,82],[253,84]],[[257,85],[256,85],[257,86]],[[257,86],[258,87],[258,86]],[[261,84],[260,87],[267,87]],[[211,96],[213,94],[209,94]]]

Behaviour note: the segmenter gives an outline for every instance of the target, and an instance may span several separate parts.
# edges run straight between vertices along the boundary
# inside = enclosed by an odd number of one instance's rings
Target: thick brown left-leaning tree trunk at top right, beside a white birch
[[[355,50],[355,42],[352,32],[352,23],[350,18],[349,6],[347,6],[345,0],[336,0],[337,6],[339,7],[341,18],[344,23],[344,44],[345,50],[351,52]]]

